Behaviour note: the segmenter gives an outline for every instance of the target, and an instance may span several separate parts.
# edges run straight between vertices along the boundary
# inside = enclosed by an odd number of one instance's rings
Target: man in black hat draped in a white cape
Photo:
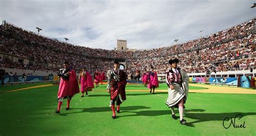
[[[188,96],[188,80],[187,73],[178,67],[179,60],[169,60],[171,69],[166,72],[166,83],[169,87],[166,105],[171,107],[172,118],[177,119],[174,113],[174,107],[179,108],[180,124],[186,124],[183,119],[184,104]]]

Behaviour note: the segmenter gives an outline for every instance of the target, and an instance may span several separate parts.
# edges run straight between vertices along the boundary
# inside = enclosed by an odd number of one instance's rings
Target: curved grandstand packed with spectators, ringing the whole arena
[[[179,58],[179,66],[187,73],[255,69],[255,19],[182,44],[151,50],[118,51],[91,49],[37,35],[3,21],[0,25],[0,68],[58,71],[68,60],[79,72],[83,67],[91,74],[99,69],[106,73],[112,60],[118,58],[131,74],[154,66],[159,74],[169,67],[168,60]],[[8,55],[20,58],[11,59]],[[24,59],[28,62],[24,63]],[[52,64],[52,65],[49,65]]]

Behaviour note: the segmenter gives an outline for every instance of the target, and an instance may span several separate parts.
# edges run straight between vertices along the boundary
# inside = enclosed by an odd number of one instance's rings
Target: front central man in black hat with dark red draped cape
[[[114,69],[107,72],[107,90],[110,93],[110,106],[113,112],[112,118],[116,118],[116,112],[114,111],[114,103],[117,105],[117,113],[120,112],[120,104],[126,100],[125,86],[127,74],[119,69],[118,60],[114,60]]]

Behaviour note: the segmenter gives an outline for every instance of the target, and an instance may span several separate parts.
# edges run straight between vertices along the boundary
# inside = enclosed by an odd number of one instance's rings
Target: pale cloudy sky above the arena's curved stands
[[[253,1],[0,0],[0,19],[69,43],[112,50],[152,49],[210,35],[255,17]]]

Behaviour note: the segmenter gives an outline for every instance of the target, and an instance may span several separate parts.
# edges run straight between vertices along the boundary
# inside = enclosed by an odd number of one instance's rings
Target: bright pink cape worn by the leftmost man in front
[[[70,70],[69,73],[69,80],[63,80],[60,78],[58,98],[66,96],[73,97],[76,93],[79,93],[76,72],[74,70]]]

